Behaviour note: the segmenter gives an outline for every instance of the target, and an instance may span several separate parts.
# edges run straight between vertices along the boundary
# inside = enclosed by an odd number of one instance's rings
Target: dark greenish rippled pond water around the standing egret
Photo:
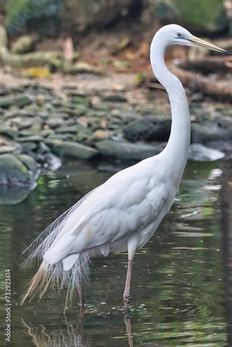
[[[109,172],[69,164],[42,176],[22,203],[0,205],[0,345],[231,346],[231,258],[222,230],[219,166],[188,163],[171,212],[135,255],[131,322],[122,307],[126,254],[94,260],[81,319],[77,299],[63,314],[65,294],[49,291],[40,302],[19,305],[35,273],[19,269],[22,251]],[[5,298],[9,273],[11,305]],[[10,342],[4,335],[9,318]]]

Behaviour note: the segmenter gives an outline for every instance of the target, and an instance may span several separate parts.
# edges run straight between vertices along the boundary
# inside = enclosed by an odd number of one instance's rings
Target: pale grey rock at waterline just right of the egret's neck
[[[188,159],[197,162],[211,162],[224,158],[224,153],[217,149],[210,149],[203,144],[191,144],[188,152]]]

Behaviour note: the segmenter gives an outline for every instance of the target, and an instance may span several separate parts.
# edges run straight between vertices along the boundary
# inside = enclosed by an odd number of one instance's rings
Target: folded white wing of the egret
[[[167,198],[165,183],[129,178],[123,183],[108,180],[85,198],[66,219],[44,259],[53,264],[70,253],[117,241],[154,221]]]

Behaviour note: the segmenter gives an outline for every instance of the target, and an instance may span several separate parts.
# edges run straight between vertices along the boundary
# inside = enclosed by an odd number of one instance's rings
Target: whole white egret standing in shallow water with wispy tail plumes
[[[135,251],[144,246],[169,212],[188,157],[190,115],[183,86],[165,65],[167,46],[202,46],[228,53],[194,37],[181,26],[161,28],[151,43],[151,66],[165,87],[172,108],[172,129],[165,149],[154,157],[124,169],[85,195],[58,217],[29,246],[26,266],[42,261],[24,295],[40,297],[47,287],[74,290],[83,305],[82,284],[88,279],[90,260],[97,255],[128,251],[124,307],[129,310],[131,266]]]

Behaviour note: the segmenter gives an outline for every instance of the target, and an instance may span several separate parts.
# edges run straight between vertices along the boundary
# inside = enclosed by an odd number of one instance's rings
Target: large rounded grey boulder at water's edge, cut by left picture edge
[[[20,158],[20,155],[17,157],[13,154],[1,154],[0,185],[17,185],[33,189],[36,186],[38,171],[35,170],[36,164],[32,164],[32,160],[27,155]]]

